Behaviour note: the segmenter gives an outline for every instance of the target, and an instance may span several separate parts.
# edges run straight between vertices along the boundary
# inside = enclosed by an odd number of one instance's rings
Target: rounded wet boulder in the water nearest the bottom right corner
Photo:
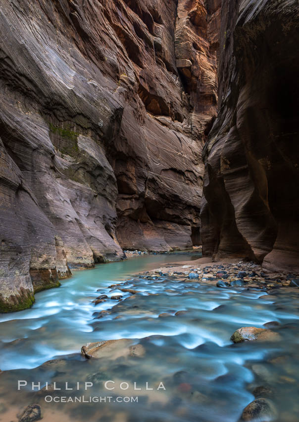
[[[275,421],[276,418],[277,410],[274,404],[270,400],[261,397],[246,406],[242,413],[241,421],[267,422]]]

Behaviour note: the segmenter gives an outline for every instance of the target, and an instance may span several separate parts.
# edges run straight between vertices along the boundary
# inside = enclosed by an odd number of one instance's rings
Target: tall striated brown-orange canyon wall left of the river
[[[0,311],[200,242],[220,1],[2,0]]]

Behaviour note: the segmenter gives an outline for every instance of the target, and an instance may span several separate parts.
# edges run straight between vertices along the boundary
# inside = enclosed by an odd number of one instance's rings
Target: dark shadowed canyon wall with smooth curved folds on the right
[[[203,154],[203,253],[299,263],[298,1],[225,0]]]

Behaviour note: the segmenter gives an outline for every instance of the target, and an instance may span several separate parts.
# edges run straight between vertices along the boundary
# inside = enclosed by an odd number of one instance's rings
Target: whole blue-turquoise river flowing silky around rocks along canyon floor
[[[186,259],[149,255],[75,272],[58,289],[38,293],[31,309],[2,314],[0,421],[15,421],[21,408],[39,403],[46,422],[237,422],[260,386],[278,415],[265,420],[298,421],[297,290],[277,289],[265,297],[257,288],[136,275]],[[139,293],[108,288],[117,282]],[[95,305],[100,294],[125,300]],[[180,310],[187,312],[174,315]],[[278,342],[230,341],[240,327],[264,328],[271,321],[279,323]],[[79,353],[88,342],[117,339],[129,339],[128,345],[117,343],[99,359]],[[129,346],[136,344],[141,352],[132,355]],[[27,381],[20,391],[18,380]],[[61,390],[51,390],[54,381]],[[32,391],[31,382],[41,388],[48,382],[49,391]],[[66,382],[73,390],[66,390]]]

